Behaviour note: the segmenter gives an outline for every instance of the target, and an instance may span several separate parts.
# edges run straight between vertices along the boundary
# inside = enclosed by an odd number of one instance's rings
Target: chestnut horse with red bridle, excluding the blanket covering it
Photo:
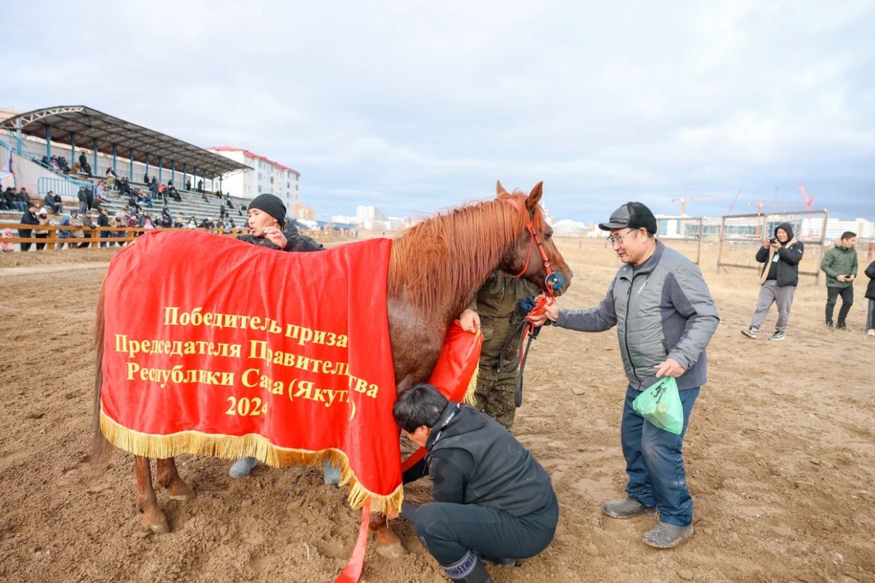
[[[502,269],[518,274],[547,289],[547,269],[529,225],[540,239],[550,266],[570,283],[571,271],[550,239],[552,230],[538,205],[542,183],[536,184],[528,196],[519,191],[509,194],[500,183],[497,190],[498,196],[493,200],[465,205],[409,228],[392,245],[388,329],[398,392],[428,380],[446,330],[493,271]],[[109,444],[100,430],[103,297],[107,293],[116,292],[102,288],[95,327],[97,374],[92,459],[99,465],[106,459]],[[170,531],[152,487],[150,460],[135,456],[135,468],[137,509],[143,512],[143,524],[156,533]],[[174,499],[194,497],[192,487],[179,477],[172,457],[158,460],[158,483]],[[377,552],[387,557],[402,553],[401,542],[388,529],[385,517],[372,515],[371,529]]]

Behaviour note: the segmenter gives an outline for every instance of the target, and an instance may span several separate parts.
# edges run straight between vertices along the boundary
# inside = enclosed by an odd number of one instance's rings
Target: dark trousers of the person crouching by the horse
[[[556,495],[542,510],[514,517],[476,504],[432,502],[416,510],[416,535],[437,562],[455,566],[469,552],[496,559],[526,559],[542,552],[559,519]]]

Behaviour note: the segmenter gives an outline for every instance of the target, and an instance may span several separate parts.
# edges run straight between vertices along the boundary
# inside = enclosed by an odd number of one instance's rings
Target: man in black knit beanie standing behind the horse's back
[[[281,251],[321,251],[324,246],[319,245],[313,239],[303,235],[295,235],[292,239],[283,234],[285,225],[285,205],[283,201],[273,194],[260,194],[252,199],[248,208],[249,232],[248,235],[240,235],[237,239],[253,245],[279,249]],[[257,460],[254,457],[242,457],[228,470],[228,475],[233,478],[242,478],[249,475],[255,468]],[[323,465],[325,483],[336,484],[340,480],[340,470],[330,463]]]

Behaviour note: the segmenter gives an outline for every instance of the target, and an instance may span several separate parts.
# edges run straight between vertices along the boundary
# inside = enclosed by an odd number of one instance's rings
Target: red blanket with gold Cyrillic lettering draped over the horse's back
[[[103,434],[154,458],[331,458],[353,507],[370,498],[374,510],[396,509],[390,248],[372,239],[283,253],[207,233],[144,234],[104,283]]]

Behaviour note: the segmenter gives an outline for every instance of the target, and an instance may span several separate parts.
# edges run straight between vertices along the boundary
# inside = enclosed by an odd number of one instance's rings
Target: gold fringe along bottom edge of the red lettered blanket
[[[340,468],[340,488],[346,488],[346,501],[353,510],[359,510],[368,499],[374,512],[395,513],[401,511],[404,489],[399,485],[392,494],[381,496],[361,485],[349,465],[346,454],[339,449],[309,451],[305,449],[278,448],[257,434],[225,435],[203,434],[199,431],[182,431],[178,434],[143,434],[123,427],[101,411],[101,433],[109,443],[133,455],[165,459],[182,454],[209,455],[228,460],[244,456],[255,457],[271,468],[285,468],[304,464],[318,466],[330,461]]]

